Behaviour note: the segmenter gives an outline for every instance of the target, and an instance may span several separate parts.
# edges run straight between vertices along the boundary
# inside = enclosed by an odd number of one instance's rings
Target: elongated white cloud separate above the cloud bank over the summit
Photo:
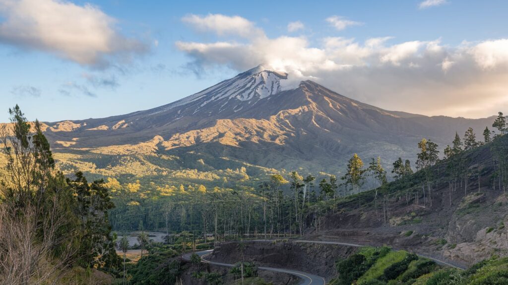
[[[263,30],[240,16],[225,16],[221,14],[208,14],[199,16],[190,14],[182,18],[184,23],[192,25],[199,31],[213,31],[218,36],[240,36],[252,38],[263,36]]]

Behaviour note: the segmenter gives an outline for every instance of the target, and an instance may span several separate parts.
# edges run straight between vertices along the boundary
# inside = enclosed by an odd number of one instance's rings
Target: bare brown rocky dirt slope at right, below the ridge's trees
[[[376,203],[374,192],[363,193],[338,204],[322,218],[321,229],[309,228],[305,239],[386,244],[465,266],[493,254],[508,256],[508,199],[499,187],[491,187],[490,179],[471,176],[467,186],[453,190],[440,181],[433,186],[432,204],[422,191],[393,193],[388,219],[383,196]]]

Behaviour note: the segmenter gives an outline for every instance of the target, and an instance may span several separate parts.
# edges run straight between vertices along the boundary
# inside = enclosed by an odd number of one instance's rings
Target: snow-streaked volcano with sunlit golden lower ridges
[[[242,167],[256,180],[291,170],[337,174],[353,153],[413,160],[422,137],[442,147],[456,131],[478,133],[493,121],[387,111],[312,81],[288,86],[288,77],[259,66],[154,109],[46,122],[45,135],[66,174],[216,186]]]

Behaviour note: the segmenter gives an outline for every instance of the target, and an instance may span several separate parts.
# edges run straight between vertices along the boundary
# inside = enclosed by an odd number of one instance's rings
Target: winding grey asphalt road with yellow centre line
[[[272,242],[272,240],[268,240],[268,239],[259,239],[259,240],[252,240],[252,241],[253,242]],[[368,246],[368,245],[361,245],[361,244],[354,244],[354,243],[345,243],[345,242],[337,242],[337,241],[294,240],[294,242],[320,243],[320,244],[336,244],[336,245],[345,245],[345,246],[353,246],[353,247]],[[200,256],[201,262],[209,263],[209,264],[213,264],[213,265],[217,265],[217,266],[226,266],[226,267],[233,267],[234,266],[233,264],[213,262],[213,261],[206,260],[205,258],[207,256],[209,256],[212,253],[212,251],[213,251],[213,249],[208,249],[208,250],[203,250],[203,251],[199,251],[199,252],[196,252],[196,253]],[[188,254],[185,254],[182,257],[183,257],[184,260],[190,261],[190,255],[191,254],[192,254],[192,252],[189,252]],[[450,266],[450,267],[454,267],[454,268],[461,269],[461,270],[466,269],[463,265],[452,264],[452,263],[450,263],[448,261],[443,261],[443,260],[436,259],[436,258],[433,258],[433,257],[430,257],[430,256],[425,256],[425,255],[420,255],[420,254],[417,254],[417,255],[420,256],[420,257],[423,257],[423,258],[427,258],[427,259],[433,260],[434,262],[436,262],[439,265]],[[309,284],[312,284],[312,285],[325,285],[326,284],[325,278],[323,278],[321,276],[314,275],[314,274],[302,272],[302,271],[291,270],[291,269],[282,269],[282,268],[272,268],[272,267],[258,267],[258,269],[293,274],[293,275],[298,276],[298,277],[300,277],[302,279],[302,282],[300,283],[300,285],[309,285]]]

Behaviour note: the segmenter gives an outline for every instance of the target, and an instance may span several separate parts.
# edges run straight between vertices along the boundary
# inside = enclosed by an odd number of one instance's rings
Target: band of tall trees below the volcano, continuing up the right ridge
[[[475,177],[493,169],[490,181],[494,189],[506,189],[508,183],[505,146],[499,142],[506,133],[506,117],[499,113],[493,127],[477,139],[472,129],[463,138],[451,134],[453,142],[440,155],[439,146],[422,139],[414,166],[398,159],[390,165],[392,177],[379,157],[364,163],[357,154],[348,161],[345,174],[339,178],[322,173],[300,175],[272,174],[257,186],[224,187],[217,185],[179,185],[143,189],[140,183],[120,184],[108,179],[116,208],[110,221],[117,231],[158,230],[213,234],[217,240],[232,237],[274,237],[302,235],[308,227],[319,229],[326,213],[335,210],[341,199],[354,199],[368,189],[374,197],[378,216],[390,216],[390,199],[404,196],[418,205],[432,206],[432,194],[448,185],[450,192],[467,187]],[[493,160],[488,165],[474,165],[467,153],[489,148]],[[414,173],[417,170],[418,172]],[[245,169],[237,170],[244,173]],[[317,177],[317,178],[316,178]],[[245,179],[247,181],[248,179]],[[389,182],[391,180],[391,182]],[[249,181],[250,183],[250,181]],[[404,193],[399,190],[403,189]],[[451,200],[450,200],[451,201]]]

